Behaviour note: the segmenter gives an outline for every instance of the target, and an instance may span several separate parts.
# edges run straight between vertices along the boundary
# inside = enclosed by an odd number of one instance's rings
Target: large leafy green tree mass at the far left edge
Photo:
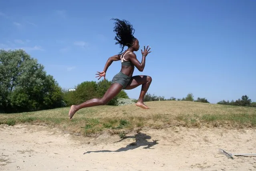
[[[63,94],[44,66],[24,50],[0,50],[0,112],[65,106]]]

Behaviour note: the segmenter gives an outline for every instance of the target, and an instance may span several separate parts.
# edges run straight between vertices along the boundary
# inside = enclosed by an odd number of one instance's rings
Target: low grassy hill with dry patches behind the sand
[[[94,135],[108,131],[127,133],[141,127],[256,128],[256,107],[238,107],[189,101],[146,102],[148,110],[135,105],[97,106],[78,111],[69,119],[69,107],[28,113],[0,114],[0,123],[29,123],[58,127],[70,133]]]

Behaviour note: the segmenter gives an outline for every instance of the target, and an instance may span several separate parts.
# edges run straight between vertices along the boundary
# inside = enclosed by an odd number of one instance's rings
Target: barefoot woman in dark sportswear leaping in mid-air
[[[142,72],[145,67],[145,60],[147,54],[149,54],[148,49],[144,46],[144,51],[141,50],[142,54],[142,60],[139,62],[136,58],[136,55],[134,54],[134,51],[139,50],[139,41],[137,38],[133,36],[134,29],[133,26],[127,22],[126,20],[119,20],[119,19],[112,19],[115,20],[115,27],[114,32],[116,33],[115,40],[117,40],[116,44],[120,44],[120,47],[122,48],[121,54],[115,55],[110,57],[107,60],[107,63],[105,65],[105,68],[102,72],[98,72],[99,79],[101,77],[106,76],[107,69],[112,64],[113,61],[119,61],[121,60],[121,71],[116,74],[111,81],[111,85],[109,89],[107,89],[107,92],[103,95],[101,98],[93,98],[88,101],[85,101],[84,103],[81,103],[79,105],[72,105],[71,109],[69,111],[69,118],[72,119],[73,115],[82,108],[85,107],[92,107],[97,105],[105,105],[107,104],[111,99],[113,99],[122,89],[133,89],[139,85],[141,86],[141,93],[139,95],[139,99],[136,103],[137,106],[143,108],[143,109],[149,109],[144,103],[143,99],[144,96],[149,88],[149,85],[151,84],[152,78],[150,76],[132,76],[134,72],[134,66]],[[124,46],[127,46],[128,49],[123,52]],[[123,53],[122,53],[123,52]],[[98,80],[99,80],[98,79]]]

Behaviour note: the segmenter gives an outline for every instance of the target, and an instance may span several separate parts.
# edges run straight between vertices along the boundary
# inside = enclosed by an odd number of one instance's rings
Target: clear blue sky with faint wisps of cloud
[[[152,77],[149,93],[256,101],[255,9],[254,0],[2,0],[0,48],[26,50],[62,88],[73,88],[97,81],[120,52],[110,19],[125,19],[140,46],[151,46],[144,71],[134,72]],[[113,62],[106,78],[120,69]],[[137,99],[140,89],[126,92]]]

